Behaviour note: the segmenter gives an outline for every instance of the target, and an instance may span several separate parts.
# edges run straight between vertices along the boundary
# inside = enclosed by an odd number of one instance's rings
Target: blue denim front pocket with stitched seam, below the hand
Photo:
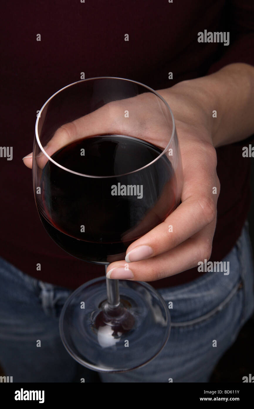
[[[245,283],[241,271],[242,260],[242,247],[235,245],[222,260],[229,263],[229,274],[206,272],[190,283],[160,289],[163,299],[170,303],[172,325],[186,326],[205,321],[223,310],[238,293],[241,293],[243,304]],[[239,308],[242,309],[243,305]]]

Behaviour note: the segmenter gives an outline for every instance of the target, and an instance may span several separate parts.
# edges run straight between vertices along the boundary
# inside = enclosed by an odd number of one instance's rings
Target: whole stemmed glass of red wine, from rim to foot
[[[146,85],[121,78],[62,88],[38,114],[33,189],[42,224],[57,245],[106,268],[123,261],[130,243],[180,202],[181,155],[168,104]],[[124,271],[129,268],[124,262]],[[60,315],[66,350],[95,371],[146,364],[169,333],[170,314],[159,293],[128,279],[85,282]]]

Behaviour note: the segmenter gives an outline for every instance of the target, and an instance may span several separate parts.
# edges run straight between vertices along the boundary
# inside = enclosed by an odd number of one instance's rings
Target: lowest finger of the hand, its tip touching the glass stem
[[[208,261],[212,251],[214,223],[168,252],[147,260],[118,261],[107,268],[107,278],[155,281],[189,270],[199,261]]]

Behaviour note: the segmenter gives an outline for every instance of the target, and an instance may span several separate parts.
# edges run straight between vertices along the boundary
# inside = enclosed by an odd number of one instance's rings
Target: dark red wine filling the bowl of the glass
[[[42,171],[35,200],[55,243],[85,261],[124,259],[128,245],[177,205],[174,170],[160,154],[157,146],[122,135],[87,137],[54,153],[55,162],[82,173],[51,161]]]

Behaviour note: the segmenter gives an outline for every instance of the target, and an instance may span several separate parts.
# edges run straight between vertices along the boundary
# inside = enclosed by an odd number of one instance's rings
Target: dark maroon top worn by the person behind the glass
[[[3,17],[0,144],[13,146],[13,160],[0,158],[0,256],[38,279],[76,288],[104,274],[104,267],[69,256],[40,222],[31,170],[22,163],[32,151],[37,110],[57,90],[80,80],[81,72],[85,78],[133,79],[157,90],[229,63],[254,64],[254,2],[5,2]],[[199,43],[198,32],[204,30],[229,31],[230,45]],[[221,194],[211,261],[220,261],[232,249],[247,216],[250,160],[242,157],[247,144],[217,149]],[[181,284],[200,274],[194,268],[152,285]]]

